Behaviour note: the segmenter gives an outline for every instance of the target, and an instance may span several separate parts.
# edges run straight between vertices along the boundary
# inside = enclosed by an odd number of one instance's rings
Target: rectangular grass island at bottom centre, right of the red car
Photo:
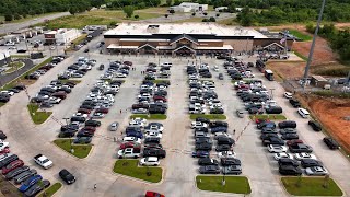
[[[222,185],[223,176],[196,176],[197,187],[201,190],[211,190],[233,194],[250,194],[250,185],[245,176],[225,176],[225,185]]]

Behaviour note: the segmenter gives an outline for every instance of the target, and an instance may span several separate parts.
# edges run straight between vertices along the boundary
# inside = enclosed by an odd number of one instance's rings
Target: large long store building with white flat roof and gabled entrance
[[[269,37],[254,28],[215,23],[121,23],[106,32],[104,38],[112,54],[191,56],[252,51],[266,46],[284,49],[279,43],[280,37]]]

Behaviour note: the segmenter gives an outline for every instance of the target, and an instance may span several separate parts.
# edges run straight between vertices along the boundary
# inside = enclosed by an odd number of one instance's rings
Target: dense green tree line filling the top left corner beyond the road
[[[12,21],[50,12],[69,11],[74,14],[104,3],[105,0],[0,0],[0,15]]]

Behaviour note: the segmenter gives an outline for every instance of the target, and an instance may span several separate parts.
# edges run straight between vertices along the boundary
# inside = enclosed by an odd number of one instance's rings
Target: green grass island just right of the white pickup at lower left
[[[70,144],[69,139],[57,139],[54,141],[55,144],[57,144],[59,148],[63,149],[66,152],[83,159],[86,158],[91,151],[92,146],[91,144]],[[70,152],[70,148],[74,150],[73,153]]]

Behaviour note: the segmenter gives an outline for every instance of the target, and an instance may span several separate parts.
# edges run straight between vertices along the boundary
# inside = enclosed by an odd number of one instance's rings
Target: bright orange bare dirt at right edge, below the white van
[[[303,97],[328,132],[350,152],[350,100]]]

